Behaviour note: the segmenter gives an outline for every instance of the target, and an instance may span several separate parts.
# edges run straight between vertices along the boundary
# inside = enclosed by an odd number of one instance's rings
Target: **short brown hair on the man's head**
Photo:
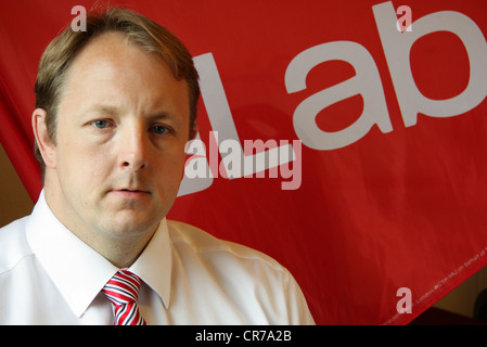
[[[190,137],[196,119],[200,98],[198,75],[184,44],[169,30],[150,18],[127,9],[108,9],[102,14],[87,15],[86,31],[74,31],[66,27],[49,43],[39,63],[36,85],[36,108],[47,112],[46,126],[49,138],[55,143],[56,114],[62,87],[78,52],[94,37],[104,33],[121,33],[128,42],[159,55],[178,80],[185,80],[190,100]],[[36,142],[35,154],[44,170],[44,163]]]

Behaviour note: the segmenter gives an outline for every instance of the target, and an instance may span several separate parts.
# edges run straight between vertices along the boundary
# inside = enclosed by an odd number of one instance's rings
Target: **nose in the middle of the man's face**
[[[139,171],[148,167],[148,138],[140,127],[125,129],[119,140],[119,163],[123,169]]]

